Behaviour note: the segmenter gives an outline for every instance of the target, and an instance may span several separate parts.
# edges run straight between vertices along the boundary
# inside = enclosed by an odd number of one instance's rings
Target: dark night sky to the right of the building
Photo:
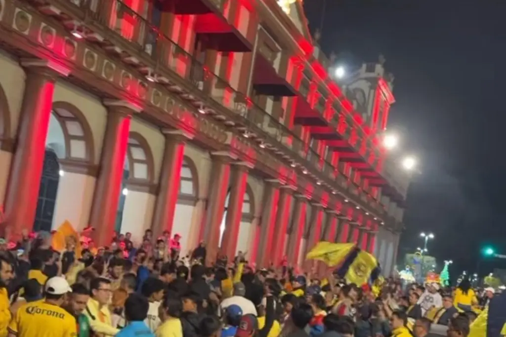
[[[305,0],[312,32],[322,3]],[[388,128],[402,132],[400,151],[416,155],[422,171],[399,254],[432,231],[429,253],[453,259],[450,275],[476,272],[480,247],[506,255],[506,2],[326,0],[325,13],[327,55],[361,63],[383,54],[395,75]],[[505,262],[482,262],[480,274]]]

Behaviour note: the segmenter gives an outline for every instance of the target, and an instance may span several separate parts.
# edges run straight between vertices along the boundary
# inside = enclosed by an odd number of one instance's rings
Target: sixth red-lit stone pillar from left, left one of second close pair
[[[264,198],[262,204],[262,223],[260,229],[260,242],[258,250],[257,266],[268,268],[273,262],[272,250],[274,247],[274,230],[276,228],[276,213],[279,201],[279,181],[276,179],[266,180]]]

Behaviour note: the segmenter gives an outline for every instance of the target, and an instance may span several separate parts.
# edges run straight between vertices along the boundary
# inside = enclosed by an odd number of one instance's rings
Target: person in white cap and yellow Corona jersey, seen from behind
[[[46,282],[44,300],[21,306],[9,324],[9,337],[75,337],[75,318],[60,306],[67,293],[72,292],[68,282],[55,276]]]

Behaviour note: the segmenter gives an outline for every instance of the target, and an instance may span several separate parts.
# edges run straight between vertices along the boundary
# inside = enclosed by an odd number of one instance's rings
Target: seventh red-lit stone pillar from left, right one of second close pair
[[[280,266],[283,260],[283,248],[286,239],[286,230],[290,221],[290,206],[293,198],[293,186],[281,186],[278,202],[278,211],[276,213],[276,235],[274,237],[274,249],[272,261],[274,265]]]

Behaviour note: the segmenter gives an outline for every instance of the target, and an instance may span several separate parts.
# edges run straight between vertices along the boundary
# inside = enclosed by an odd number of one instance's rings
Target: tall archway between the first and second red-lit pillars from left
[[[73,184],[71,177],[65,176],[65,165],[75,163],[89,164],[94,160],[93,135],[88,121],[75,106],[67,102],[55,102],[51,112],[46,136],[46,154],[43,173],[40,179],[34,230],[51,230],[59,225],[54,223],[58,205],[67,208],[66,200],[60,197],[59,188]],[[68,179],[68,180],[67,180]],[[72,189],[72,186],[66,189]],[[61,199],[61,200],[58,200]],[[79,205],[79,202],[75,202]],[[60,219],[61,220],[61,219]]]

